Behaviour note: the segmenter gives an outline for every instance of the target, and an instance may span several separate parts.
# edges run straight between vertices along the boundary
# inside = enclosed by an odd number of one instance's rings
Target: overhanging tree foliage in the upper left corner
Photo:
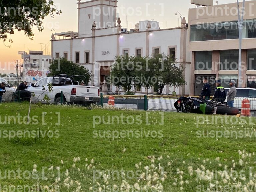
[[[3,41],[6,41],[8,34],[14,34],[15,29],[24,31],[33,40],[33,26],[42,31],[42,21],[47,15],[54,17],[54,14],[61,13],[52,0],[0,0],[0,5],[0,39]],[[12,42],[11,39],[9,41]]]

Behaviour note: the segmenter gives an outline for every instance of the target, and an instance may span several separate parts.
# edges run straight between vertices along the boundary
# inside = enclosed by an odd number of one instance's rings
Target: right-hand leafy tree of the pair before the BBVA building
[[[162,94],[166,85],[179,87],[186,83],[183,68],[165,54],[148,58],[146,69],[142,72],[142,85],[147,88],[154,86],[158,95]]]

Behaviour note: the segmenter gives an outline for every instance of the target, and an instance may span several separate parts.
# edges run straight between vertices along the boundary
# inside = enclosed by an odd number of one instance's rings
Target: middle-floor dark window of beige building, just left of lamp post
[[[238,70],[238,50],[220,51],[220,70]]]

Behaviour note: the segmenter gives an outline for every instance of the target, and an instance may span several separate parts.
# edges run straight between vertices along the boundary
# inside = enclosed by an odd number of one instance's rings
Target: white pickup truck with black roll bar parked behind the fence
[[[63,103],[91,104],[100,101],[99,87],[79,85],[78,81],[73,80],[74,77],[78,76],[67,76],[67,74],[64,74],[44,77],[24,91],[33,93],[31,101],[35,103],[46,103],[47,101],[44,101],[44,96],[48,95],[50,103],[60,104],[61,91],[63,92]],[[52,84],[52,91],[48,89],[49,83]]]

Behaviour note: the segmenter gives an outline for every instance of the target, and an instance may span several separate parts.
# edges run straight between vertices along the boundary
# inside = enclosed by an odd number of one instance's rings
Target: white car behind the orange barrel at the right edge
[[[229,88],[226,88],[225,91],[227,92]],[[242,108],[242,101],[243,99],[250,100],[251,110],[256,111],[256,89],[253,88],[236,88],[237,93],[234,100],[234,107],[241,110]],[[227,100],[226,100],[227,102]]]

